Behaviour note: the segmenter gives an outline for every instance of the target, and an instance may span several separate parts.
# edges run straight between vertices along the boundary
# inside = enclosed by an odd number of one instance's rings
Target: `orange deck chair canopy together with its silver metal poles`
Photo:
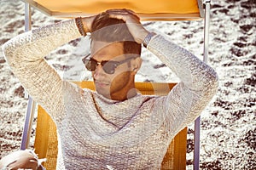
[[[210,4],[211,0],[21,0],[25,3],[25,31],[31,30],[31,7],[44,14],[59,18],[73,18],[98,14],[108,8],[130,8],[141,20],[205,20],[203,60],[207,63]],[[145,5],[146,4],[146,5]],[[23,130],[20,149],[25,150],[29,144],[32,117],[35,105],[28,98],[26,122]],[[200,164],[200,117],[195,121],[194,133],[194,169],[199,170]],[[183,169],[183,168],[181,168]]]

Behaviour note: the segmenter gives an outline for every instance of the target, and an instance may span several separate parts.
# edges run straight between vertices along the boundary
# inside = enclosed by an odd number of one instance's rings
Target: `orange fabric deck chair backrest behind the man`
[[[81,88],[95,90],[93,82],[74,82]],[[136,82],[136,88],[141,94],[166,95],[176,85],[176,83],[159,82]],[[38,123],[36,128],[35,152],[39,158],[47,158],[44,167],[47,170],[54,170],[58,153],[58,140],[56,127],[50,116],[44,109],[38,106]],[[177,133],[166,152],[162,161],[161,169],[185,169],[186,168],[186,148],[187,148],[187,127]]]

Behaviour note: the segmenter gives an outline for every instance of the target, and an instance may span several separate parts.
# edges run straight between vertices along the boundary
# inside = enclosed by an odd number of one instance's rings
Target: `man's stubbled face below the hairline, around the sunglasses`
[[[134,83],[134,73],[131,71],[131,60],[125,60],[124,47],[122,42],[92,42],[91,58],[98,62],[96,71],[92,71],[96,92],[108,99],[124,100]],[[125,61],[116,66],[112,73],[104,71],[102,61]]]

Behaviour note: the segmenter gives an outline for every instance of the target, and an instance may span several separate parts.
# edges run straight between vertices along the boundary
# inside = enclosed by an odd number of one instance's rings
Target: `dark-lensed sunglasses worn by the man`
[[[120,60],[120,61],[112,61],[112,60],[103,60],[101,62],[97,61],[96,59],[86,59],[88,58],[90,54],[86,55],[84,57],[84,59],[82,59],[84,65],[85,65],[85,68],[88,70],[88,71],[96,71],[96,67],[97,65],[102,65],[102,69],[103,71],[105,71],[107,74],[113,74],[116,67],[118,67],[119,65],[122,65],[124,64],[125,62],[131,60],[131,59],[135,59],[137,57],[131,57],[131,58],[127,58],[127,59],[124,59],[124,60]]]

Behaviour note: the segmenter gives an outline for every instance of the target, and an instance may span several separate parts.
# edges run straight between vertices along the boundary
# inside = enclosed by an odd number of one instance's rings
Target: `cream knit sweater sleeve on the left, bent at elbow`
[[[3,54],[32,99],[52,116],[63,111],[63,81],[44,56],[55,48],[80,37],[74,20],[27,31],[3,45]],[[60,115],[58,116],[61,117]]]

